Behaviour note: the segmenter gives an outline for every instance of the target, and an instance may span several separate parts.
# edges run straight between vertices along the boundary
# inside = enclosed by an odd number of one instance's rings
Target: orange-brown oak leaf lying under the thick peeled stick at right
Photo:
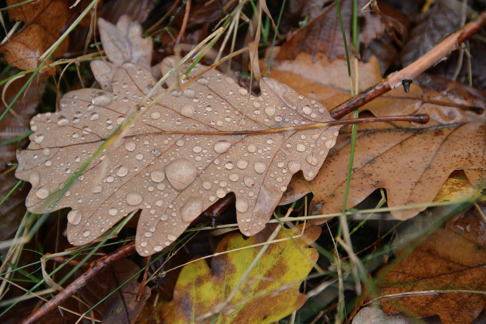
[[[329,63],[325,56],[312,63],[310,55],[300,54],[295,61],[276,65],[272,76],[298,86],[297,91],[332,107],[349,98],[344,65],[346,61],[337,59]],[[360,89],[376,83],[379,71],[376,63],[360,63]],[[429,76],[422,81],[422,87],[412,84],[409,93],[401,87],[394,89],[360,108],[375,116],[426,113],[431,116],[431,122],[419,127],[397,122],[358,126],[347,208],[357,205],[378,188],[386,188],[388,206],[431,203],[457,168],[476,168],[465,170],[474,186],[484,181],[485,95],[467,85],[438,80]],[[477,111],[469,110],[470,107],[477,107]],[[314,215],[342,210],[350,136],[348,131],[340,134],[311,182],[315,195],[310,212]],[[298,182],[289,186],[292,191],[286,193],[288,197],[281,204],[310,192],[304,179]],[[392,211],[392,214],[404,220],[419,211],[410,209]]]

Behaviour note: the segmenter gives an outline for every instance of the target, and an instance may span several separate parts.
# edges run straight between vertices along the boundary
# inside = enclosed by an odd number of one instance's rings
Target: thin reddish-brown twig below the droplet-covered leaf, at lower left
[[[89,269],[74,280],[68,287],[55,295],[51,300],[37,308],[29,317],[20,322],[20,324],[33,324],[40,320],[44,315],[49,313],[55,307],[61,305],[72,294],[83,288],[95,276],[102,273],[113,262],[120,260],[125,256],[135,253],[135,241],[132,241],[121,248],[103,256],[92,263]]]

